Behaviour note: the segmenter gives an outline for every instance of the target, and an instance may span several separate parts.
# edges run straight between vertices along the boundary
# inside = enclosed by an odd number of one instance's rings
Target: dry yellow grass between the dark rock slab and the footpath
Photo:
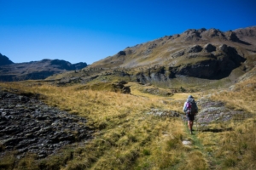
[[[163,102],[164,98],[83,90],[80,85],[55,87],[35,84],[13,82],[1,86],[22,89],[25,94],[42,94],[47,104],[84,116],[89,125],[96,128],[95,139],[74,149],[73,159],[67,161],[62,169],[134,169],[148,166],[149,169],[159,169],[172,167],[182,160],[184,149],[181,142],[186,135],[183,122],[146,113],[151,108],[177,110],[183,104],[172,102],[169,105]],[[55,162],[57,166],[60,166],[58,162],[63,163],[54,156],[48,159],[56,160],[49,162]],[[32,159],[22,161],[18,165],[29,166]]]

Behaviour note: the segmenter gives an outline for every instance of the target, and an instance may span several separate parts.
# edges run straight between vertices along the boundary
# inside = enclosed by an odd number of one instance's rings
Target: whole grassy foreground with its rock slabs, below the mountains
[[[253,169],[255,80],[171,96],[144,93],[155,87],[137,82],[128,84],[131,95],[81,84],[0,83],[0,167]],[[193,135],[182,112],[189,94],[200,107]]]

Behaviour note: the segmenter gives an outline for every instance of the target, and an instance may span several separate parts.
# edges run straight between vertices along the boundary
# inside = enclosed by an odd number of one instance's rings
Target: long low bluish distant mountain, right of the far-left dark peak
[[[0,66],[0,81],[12,82],[22,80],[44,79],[56,73],[75,71],[86,67],[86,63],[71,64],[60,59],[43,59],[28,63],[16,63]]]

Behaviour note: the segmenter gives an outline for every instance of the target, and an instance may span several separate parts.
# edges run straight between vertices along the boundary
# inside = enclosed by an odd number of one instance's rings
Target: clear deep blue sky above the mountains
[[[192,28],[247,26],[256,26],[256,0],[0,0],[0,53],[92,64]]]

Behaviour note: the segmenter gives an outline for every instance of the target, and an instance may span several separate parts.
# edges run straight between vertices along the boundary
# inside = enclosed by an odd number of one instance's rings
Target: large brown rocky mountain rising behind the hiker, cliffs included
[[[79,74],[65,73],[49,79],[68,77],[76,82],[90,82],[115,76],[146,83],[186,76],[209,80],[230,77],[234,82],[255,65],[256,26],[225,32],[202,28],[125,48]]]

